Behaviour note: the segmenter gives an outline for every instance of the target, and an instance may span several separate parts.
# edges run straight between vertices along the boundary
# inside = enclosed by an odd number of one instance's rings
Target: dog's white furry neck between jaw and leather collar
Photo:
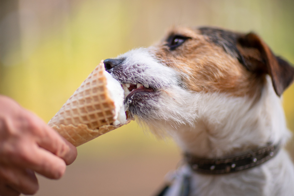
[[[258,100],[207,93],[198,103],[194,126],[182,125],[171,134],[184,152],[215,158],[282,144],[289,136],[278,96],[270,81]]]

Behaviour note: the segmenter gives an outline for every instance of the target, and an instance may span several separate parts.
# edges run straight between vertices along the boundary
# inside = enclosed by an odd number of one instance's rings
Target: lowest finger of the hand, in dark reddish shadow
[[[35,194],[39,189],[35,174],[26,169],[1,165],[0,175],[5,179],[5,184],[18,193]]]

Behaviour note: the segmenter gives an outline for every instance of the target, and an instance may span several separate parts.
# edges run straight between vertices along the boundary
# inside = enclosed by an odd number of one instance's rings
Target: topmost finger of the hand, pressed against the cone
[[[71,164],[77,157],[77,149],[66,141],[54,129],[45,124],[39,117],[28,111],[30,117],[30,128],[38,135],[38,145],[56,156],[62,158],[66,164]]]

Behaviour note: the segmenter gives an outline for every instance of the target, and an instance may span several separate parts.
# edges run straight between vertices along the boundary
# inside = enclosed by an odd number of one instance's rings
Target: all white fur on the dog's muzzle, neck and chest
[[[182,151],[200,157],[222,157],[265,146],[269,141],[283,146],[290,137],[270,76],[258,99],[193,92],[179,85],[182,73],[156,60],[152,50],[140,48],[122,54],[118,58],[125,59],[120,68],[125,75],[112,75],[122,83],[142,83],[158,89],[157,98],[148,100],[154,109],[134,117],[157,134],[161,130],[171,135]],[[132,98],[128,101],[126,106]],[[191,176],[190,196],[294,195],[294,169],[284,149],[261,166],[232,174],[203,175],[183,165],[166,196],[179,194],[183,175]]]

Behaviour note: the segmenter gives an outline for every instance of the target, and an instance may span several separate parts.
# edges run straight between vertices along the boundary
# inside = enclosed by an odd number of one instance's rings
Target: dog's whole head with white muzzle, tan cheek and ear
[[[271,76],[278,96],[294,68],[256,34],[218,28],[172,28],[158,44],[104,61],[125,90],[131,117],[147,122],[191,123],[203,93],[258,99]]]

